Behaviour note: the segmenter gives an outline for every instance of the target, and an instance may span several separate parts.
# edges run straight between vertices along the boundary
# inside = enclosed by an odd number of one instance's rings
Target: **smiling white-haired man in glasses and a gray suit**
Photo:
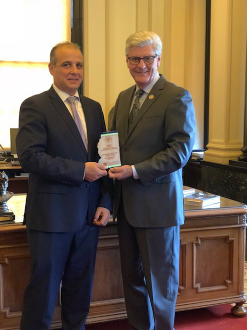
[[[179,226],[184,223],[182,167],[195,141],[191,95],[158,73],[162,42],[149,31],[126,41],[136,85],[121,92],[112,130],[122,166],[115,178],[124,296],[130,325],[172,330],[179,280]]]

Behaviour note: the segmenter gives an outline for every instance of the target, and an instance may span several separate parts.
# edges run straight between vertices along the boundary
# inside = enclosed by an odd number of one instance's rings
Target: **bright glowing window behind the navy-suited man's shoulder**
[[[0,0],[0,143],[10,148],[22,101],[48,90],[51,48],[71,40],[71,0]]]

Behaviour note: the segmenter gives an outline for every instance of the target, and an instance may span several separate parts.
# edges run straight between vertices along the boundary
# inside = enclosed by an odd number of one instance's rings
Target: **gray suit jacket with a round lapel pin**
[[[191,95],[165,80],[155,84],[127,132],[136,86],[119,94],[112,130],[119,133],[122,165],[134,165],[140,179],[115,180],[113,217],[121,193],[128,222],[134,227],[170,227],[184,223],[182,167],[195,141]]]

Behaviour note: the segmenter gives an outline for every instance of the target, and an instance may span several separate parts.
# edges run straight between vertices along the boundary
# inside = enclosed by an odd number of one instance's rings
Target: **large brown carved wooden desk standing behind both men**
[[[13,196],[8,207],[16,214],[17,223],[0,225],[0,330],[19,329],[29,279],[26,230],[20,224],[24,203],[24,194]],[[185,216],[180,231],[176,310],[236,303],[232,313],[245,316],[246,207],[222,197],[220,207],[186,207]],[[110,223],[100,231],[88,323],[126,317],[116,227]],[[51,329],[61,328],[60,313],[58,297]]]

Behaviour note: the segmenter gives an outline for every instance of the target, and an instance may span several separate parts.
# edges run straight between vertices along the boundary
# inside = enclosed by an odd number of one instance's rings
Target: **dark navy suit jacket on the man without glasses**
[[[83,180],[85,162],[99,159],[97,143],[105,123],[98,102],[80,99],[88,153],[75,121],[52,87],[21,105],[16,146],[22,168],[30,173],[24,216],[29,229],[76,231],[85,219],[92,223],[97,207],[111,210],[109,178]]]

